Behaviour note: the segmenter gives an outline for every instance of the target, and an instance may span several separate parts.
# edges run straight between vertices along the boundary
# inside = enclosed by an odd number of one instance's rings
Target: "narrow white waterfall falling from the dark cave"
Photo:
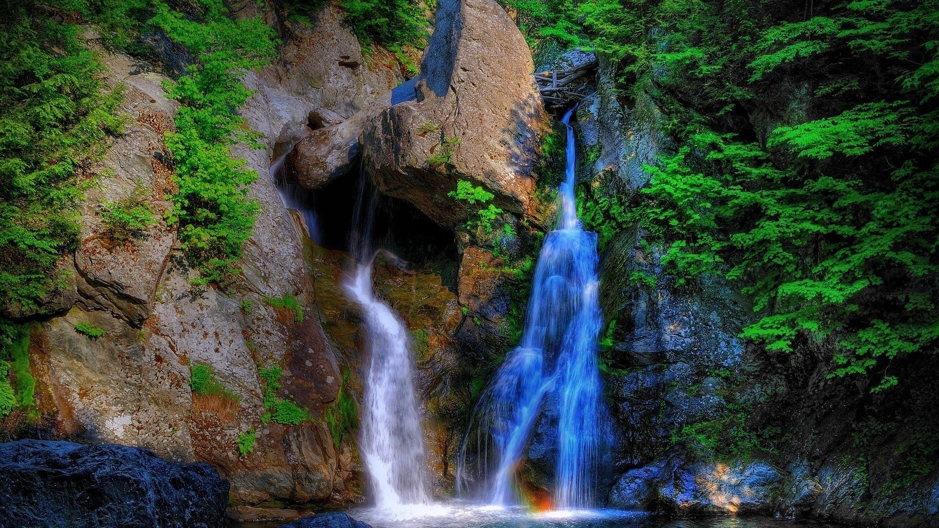
[[[423,431],[414,387],[414,357],[404,321],[372,289],[371,231],[375,192],[366,192],[362,176],[350,235],[355,271],[344,287],[362,305],[366,333],[362,432],[359,453],[376,505],[395,508],[429,503],[425,485]]]

